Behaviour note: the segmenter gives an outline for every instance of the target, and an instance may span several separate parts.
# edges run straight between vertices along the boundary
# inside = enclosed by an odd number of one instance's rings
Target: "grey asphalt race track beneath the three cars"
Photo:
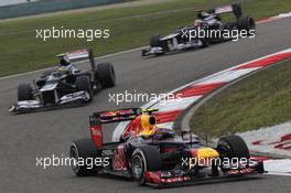
[[[108,103],[108,94],[137,90],[165,93],[200,77],[273,52],[290,47],[291,19],[258,25],[256,39],[214,45],[205,50],[142,60],[140,51],[98,60],[114,63],[118,85],[101,90],[93,104],[26,115],[10,115],[17,100],[17,86],[31,83],[39,73],[0,81],[0,190],[3,193],[79,193],[79,192],[290,192],[290,176],[263,175],[242,181],[220,182],[166,190],[140,187],[137,183],[110,176],[76,178],[69,167],[36,167],[36,157],[65,157],[71,141],[89,137],[88,115],[118,107]],[[88,66],[80,64],[82,67]],[[136,103],[140,106],[142,103]],[[112,129],[106,130],[111,138]]]

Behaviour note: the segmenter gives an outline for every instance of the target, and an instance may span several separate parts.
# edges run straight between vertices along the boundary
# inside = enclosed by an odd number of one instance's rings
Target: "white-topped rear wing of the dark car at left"
[[[91,49],[80,49],[58,54],[57,57],[67,57],[71,62],[89,60],[91,69],[96,69],[94,53]]]

